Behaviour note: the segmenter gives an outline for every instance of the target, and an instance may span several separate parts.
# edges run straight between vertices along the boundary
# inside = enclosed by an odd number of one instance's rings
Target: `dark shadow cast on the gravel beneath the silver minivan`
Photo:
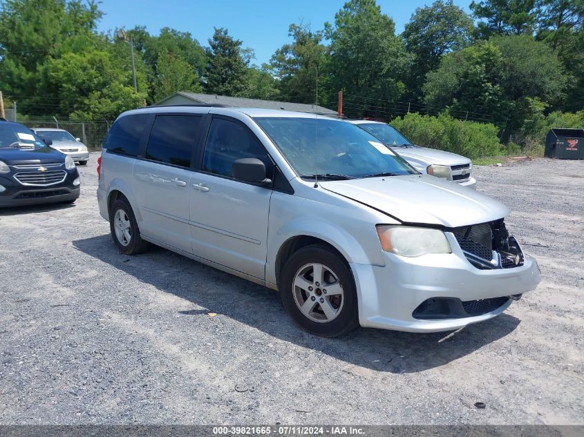
[[[152,284],[203,307],[180,308],[184,317],[225,315],[270,336],[321,351],[349,365],[391,373],[415,373],[440,367],[505,337],[520,320],[503,313],[455,333],[405,333],[358,328],[341,338],[320,338],[297,327],[283,309],[277,292],[153,247],[142,255],[120,254],[111,236],[73,241],[88,255],[115,266],[140,282]]]

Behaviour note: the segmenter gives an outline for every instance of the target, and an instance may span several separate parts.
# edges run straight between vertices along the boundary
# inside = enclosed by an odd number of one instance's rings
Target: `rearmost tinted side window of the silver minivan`
[[[140,137],[144,132],[149,114],[126,115],[111,126],[104,148],[122,155],[136,156]]]

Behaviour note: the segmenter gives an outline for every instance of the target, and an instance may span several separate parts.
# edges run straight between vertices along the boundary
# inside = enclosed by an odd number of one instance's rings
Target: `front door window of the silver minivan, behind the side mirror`
[[[232,177],[233,163],[242,158],[260,159],[265,164],[266,174],[272,174],[272,161],[255,135],[236,122],[213,119],[202,157],[202,170]]]

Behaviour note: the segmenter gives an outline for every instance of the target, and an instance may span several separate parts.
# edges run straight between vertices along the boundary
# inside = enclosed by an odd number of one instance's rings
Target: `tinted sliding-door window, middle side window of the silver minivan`
[[[189,167],[199,135],[200,117],[157,115],[146,146],[146,159]]]

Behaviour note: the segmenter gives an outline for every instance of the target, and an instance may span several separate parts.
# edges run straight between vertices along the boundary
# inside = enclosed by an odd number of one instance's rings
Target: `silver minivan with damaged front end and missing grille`
[[[509,209],[422,175],[365,130],[283,110],[159,106],[117,118],[97,200],[149,244],[279,290],[304,329],[458,329],[536,288]]]

